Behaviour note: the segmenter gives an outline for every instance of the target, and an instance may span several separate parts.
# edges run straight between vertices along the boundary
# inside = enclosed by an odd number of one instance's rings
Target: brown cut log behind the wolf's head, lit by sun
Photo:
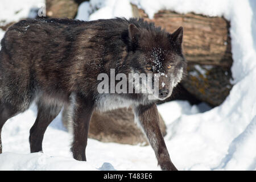
[[[133,16],[154,22],[168,32],[184,27],[183,48],[189,62],[221,67],[232,65],[230,23],[224,18],[161,10],[149,19],[143,10],[132,7]]]

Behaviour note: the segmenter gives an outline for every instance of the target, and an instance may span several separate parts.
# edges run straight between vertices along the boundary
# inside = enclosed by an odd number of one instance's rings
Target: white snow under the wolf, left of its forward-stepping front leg
[[[87,162],[77,162],[70,152],[72,136],[61,124],[61,114],[48,127],[44,154],[29,154],[29,130],[36,119],[36,107],[9,119],[3,126],[3,154],[0,170],[159,170],[151,147],[102,143],[88,139]],[[136,155],[133,155],[136,154]]]

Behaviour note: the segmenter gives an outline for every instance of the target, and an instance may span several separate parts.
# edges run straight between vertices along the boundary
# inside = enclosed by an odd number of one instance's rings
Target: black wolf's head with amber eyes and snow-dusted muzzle
[[[141,23],[129,24],[131,50],[127,59],[134,73],[152,75],[152,86],[158,92],[150,94],[154,99],[164,100],[181,81],[187,65],[181,48],[183,27],[169,34],[152,23]]]

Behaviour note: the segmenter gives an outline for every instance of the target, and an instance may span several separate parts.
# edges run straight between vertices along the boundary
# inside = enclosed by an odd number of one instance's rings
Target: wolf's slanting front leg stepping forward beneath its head
[[[172,164],[166,143],[159,126],[158,109],[155,104],[134,106],[134,115],[137,122],[144,130],[151,147],[155,151],[158,165],[162,170],[176,171],[176,167]]]

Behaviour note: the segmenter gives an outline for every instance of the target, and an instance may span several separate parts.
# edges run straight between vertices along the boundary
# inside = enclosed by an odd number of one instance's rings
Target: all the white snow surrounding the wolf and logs
[[[27,0],[32,1],[32,0]],[[0,2],[14,11],[8,2]],[[92,20],[131,16],[129,0],[91,0],[80,5],[78,19]],[[195,12],[224,16],[230,20],[234,63],[234,86],[225,102],[210,109],[172,101],[158,106],[167,124],[165,137],[172,162],[180,170],[255,170],[256,169],[256,2],[254,0],[131,0],[150,17],[160,9],[179,13]],[[34,6],[32,3],[29,4]],[[27,7],[30,7],[27,6]],[[26,7],[26,12],[29,10]],[[1,19],[6,16],[0,14]],[[24,16],[22,17],[24,18]],[[14,20],[14,18],[10,18]],[[6,22],[5,22],[6,23]],[[1,36],[0,31],[0,36]],[[0,37],[1,39],[1,37]],[[210,109],[202,113],[203,110]],[[102,143],[89,139],[88,162],[72,159],[71,135],[61,125],[60,116],[51,123],[43,141],[42,153],[29,154],[28,135],[36,118],[32,106],[7,121],[2,131],[3,154],[0,170],[158,170],[150,146]]]

